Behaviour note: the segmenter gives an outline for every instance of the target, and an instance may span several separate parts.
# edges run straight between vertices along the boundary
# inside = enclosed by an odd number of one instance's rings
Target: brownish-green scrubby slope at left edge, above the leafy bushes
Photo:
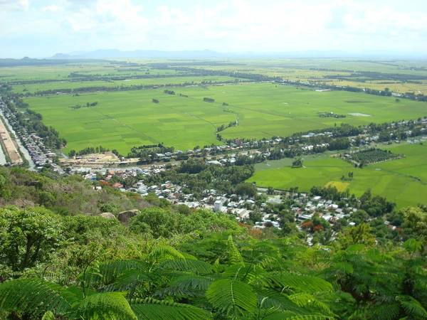
[[[95,190],[82,176],[59,176],[51,172],[38,174],[21,168],[0,167],[0,206],[45,206],[56,213],[118,213],[149,206],[135,193],[113,188]]]

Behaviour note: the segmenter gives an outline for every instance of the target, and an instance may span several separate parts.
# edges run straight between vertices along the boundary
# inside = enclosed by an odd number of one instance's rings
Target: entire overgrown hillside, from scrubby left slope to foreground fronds
[[[206,210],[151,206],[127,224],[75,214],[87,207],[73,211],[70,201],[65,210],[61,192],[85,202],[99,191],[22,169],[1,177],[2,201],[32,199],[0,209],[1,319],[427,318],[421,208],[396,213],[393,241],[377,242],[360,223],[329,246],[307,247],[301,233],[253,230]],[[60,214],[34,206],[43,192],[58,197],[50,207]]]

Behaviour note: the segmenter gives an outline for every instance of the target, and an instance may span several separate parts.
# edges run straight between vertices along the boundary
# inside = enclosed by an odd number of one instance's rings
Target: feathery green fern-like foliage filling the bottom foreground
[[[206,256],[225,250],[212,263],[188,253],[198,245]],[[404,247],[211,235],[139,259],[95,256],[62,286],[47,273],[11,279],[0,284],[0,309],[9,319],[427,319],[420,242]]]

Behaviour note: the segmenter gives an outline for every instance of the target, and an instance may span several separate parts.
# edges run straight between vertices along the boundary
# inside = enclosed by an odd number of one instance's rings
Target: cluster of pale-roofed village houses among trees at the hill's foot
[[[311,196],[309,193],[298,193],[296,191],[273,191],[273,194],[268,194],[265,188],[258,188],[254,197],[240,196],[235,193],[221,194],[215,189],[209,189],[204,191],[202,198],[196,198],[192,193],[184,193],[185,185],[180,186],[171,181],[148,185],[142,178],[129,188],[125,188],[120,182],[110,183],[110,181],[125,180],[132,176],[148,177],[165,170],[167,169],[164,168],[164,165],[151,166],[146,169],[106,170],[85,174],[84,178],[93,181],[95,190],[101,190],[102,186],[108,185],[122,192],[139,193],[142,197],[152,194],[159,199],[169,201],[174,206],[184,205],[191,209],[207,209],[217,213],[226,213],[233,215],[236,220],[242,223],[252,221],[254,229],[273,227],[280,230],[280,216],[275,213],[277,211],[275,208],[285,202],[295,220],[300,223],[297,225],[300,230],[302,230],[302,223],[311,220],[314,216],[325,219],[330,225],[334,225],[343,218],[349,220],[349,225],[355,224],[351,218],[358,209],[350,206],[351,201],[347,201],[346,198],[342,198],[340,201],[332,201],[322,198],[322,196]],[[354,202],[354,199],[352,201]],[[260,217],[258,221],[253,221],[251,217],[251,213],[255,212]],[[310,238],[308,239],[310,240]]]

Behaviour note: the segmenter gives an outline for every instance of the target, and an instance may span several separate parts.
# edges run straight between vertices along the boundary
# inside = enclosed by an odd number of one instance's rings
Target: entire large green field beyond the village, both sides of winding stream
[[[315,92],[271,83],[241,83],[204,87],[176,87],[178,95],[163,90],[96,92],[79,95],[31,97],[25,101],[68,140],[67,149],[102,144],[127,154],[132,146],[164,142],[177,149],[217,144],[216,127],[239,119],[237,127],[221,132],[226,138],[287,136],[339,125],[416,119],[427,114],[427,104],[354,92]],[[212,97],[215,103],[203,102]],[[152,103],[152,98],[160,100]],[[94,108],[70,106],[99,102]],[[355,102],[356,101],[356,102]],[[227,102],[228,106],[223,106]],[[224,112],[228,110],[231,112]],[[347,114],[321,118],[317,112]],[[370,114],[356,117],[349,113]]]

